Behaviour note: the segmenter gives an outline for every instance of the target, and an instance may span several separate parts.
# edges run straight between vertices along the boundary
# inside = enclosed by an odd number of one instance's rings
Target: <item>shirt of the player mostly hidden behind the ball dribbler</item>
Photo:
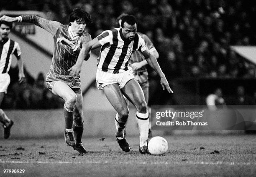
[[[140,35],[142,37],[142,39],[145,41],[146,47],[149,51],[149,53],[153,52],[154,50],[156,50],[154,44],[151,42],[151,40],[148,38],[147,35],[144,35],[141,32],[137,32],[138,35]],[[133,55],[131,55],[131,59],[130,62],[134,63],[134,62],[141,62],[142,60],[145,60],[145,57],[142,55],[141,52],[135,51],[133,53]],[[141,67],[140,69],[138,69],[140,71],[146,71],[146,66]]]

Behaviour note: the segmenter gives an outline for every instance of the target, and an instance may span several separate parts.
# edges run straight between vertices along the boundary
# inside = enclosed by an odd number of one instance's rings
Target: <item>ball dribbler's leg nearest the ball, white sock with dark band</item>
[[[146,100],[141,87],[136,80],[129,80],[121,89],[123,95],[136,107],[137,124],[140,134],[140,152],[147,153],[148,146],[148,110]]]

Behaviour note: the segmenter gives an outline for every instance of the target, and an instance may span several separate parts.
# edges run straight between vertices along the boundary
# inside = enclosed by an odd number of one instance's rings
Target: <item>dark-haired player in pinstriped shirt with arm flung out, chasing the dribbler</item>
[[[1,20],[30,22],[42,27],[54,37],[54,55],[50,71],[46,75],[46,83],[51,92],[65,100],[64,134],[67,145],[72,146],[80,154],[87,153],[81,142],[84,118],[80,77],[69,75],[68,69],[76,63],[82,47],[91,40],[91,35],[85,31],[86,25],[91,23],[90,14],[81,9],[74,9],[69,18],[69,25],[62,25],[60,22],[46,20],[36,15],[3,16]],[[89,57],[90,54],[86,60]]]

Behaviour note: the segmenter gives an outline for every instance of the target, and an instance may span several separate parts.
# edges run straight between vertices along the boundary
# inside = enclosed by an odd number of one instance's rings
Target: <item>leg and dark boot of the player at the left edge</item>
[[[5,93],[0,92],[0,106],[4,96]],[[13,121],[7,117],[2,109],[0,109],[0,122],[3,124],[4,127],[4,138],[7,139],[8,137],[10,137],[10,128],[13,126]]]

